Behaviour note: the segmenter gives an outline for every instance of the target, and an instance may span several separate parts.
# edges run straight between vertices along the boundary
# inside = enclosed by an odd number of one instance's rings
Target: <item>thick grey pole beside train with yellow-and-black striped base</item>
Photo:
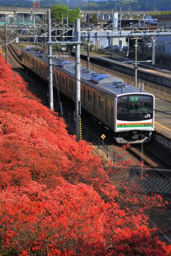
[[[80,40],[80,19],[75,22],[75,40]],[[76,139],[82,139],[81,95],[80,95],[80,44],[75,45],[75,133]]]

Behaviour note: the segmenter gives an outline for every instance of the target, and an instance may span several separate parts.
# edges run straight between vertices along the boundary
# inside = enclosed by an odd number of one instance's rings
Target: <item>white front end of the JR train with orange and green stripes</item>
[[[154,131],[154,95],[145,92],[116,97],[115,140],[118,143],[146,143]]]

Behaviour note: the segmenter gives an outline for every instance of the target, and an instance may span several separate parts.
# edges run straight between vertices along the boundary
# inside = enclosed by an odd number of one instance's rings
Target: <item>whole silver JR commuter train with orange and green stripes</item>
[[[47,55],[35,48],[22,49],[22,62],[47,80]],[[75,100],[75,63],[54,61],[54,87]],[[107,74],[81,68],[82,108],[113,131],[118,143],[148,142],[154,131],[154,95],[124,84]]]

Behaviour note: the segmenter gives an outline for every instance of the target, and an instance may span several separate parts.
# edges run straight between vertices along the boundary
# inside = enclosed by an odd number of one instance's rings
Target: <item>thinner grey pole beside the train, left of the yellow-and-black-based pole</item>
[[[52,44],[51,44],[51,11],[47,10],[48,15],[48,92],[49,92],[49,107],[54,109],[53,96],[53,76],[52,76]]]

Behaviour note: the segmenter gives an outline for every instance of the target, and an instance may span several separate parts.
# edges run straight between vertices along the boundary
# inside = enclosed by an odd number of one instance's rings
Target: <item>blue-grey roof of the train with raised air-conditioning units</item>
[[[47,54],[38,51],[35,47],[27,47],[22,50],[29,52],[29,54],[34,55],[40,60],[44,60],[44,62],[47,62]],[[73,78],[75,77],[75,62],[72,62],[71,60],[60,60],[57,58],[57,60],[54,61],[54,66],[58,67],[59,70],[64,71],[67,75],[70,75]],[[140,92],[139,88],[123,83],[123,80],[116,76],[100,74],[94,70],[89,70],[88,68],[80,67],[80,76],[81,82],[88,84],[92,88],[96,88],[96,90],[116,97],[131,93],[145,93],[150,95],[149,92],[143,90]]]

